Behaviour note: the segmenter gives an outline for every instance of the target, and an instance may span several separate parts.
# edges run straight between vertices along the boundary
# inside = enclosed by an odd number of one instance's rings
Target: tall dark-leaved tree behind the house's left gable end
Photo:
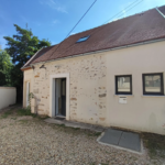
[[[8,47],[7,53],[12,58],[14,65],[11,73],[12,85],[16,87],[18,101],[22,101],[23,92],[23,73],[21,67],[42,47],[51,46],[51,42],[46,40],[38,40],[34,36],[32,31],[26,29],[21,29],[19,25],[14,24],[16,34],[12,37],[4,36],[7,40]]]

